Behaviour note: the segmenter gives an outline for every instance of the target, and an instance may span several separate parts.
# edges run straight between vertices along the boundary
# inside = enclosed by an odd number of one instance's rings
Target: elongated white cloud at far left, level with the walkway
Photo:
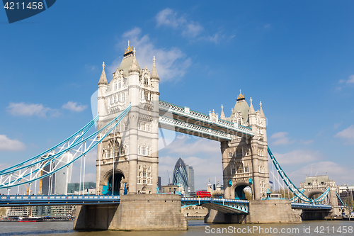
[[[57,109],[52,109],[35,103],[10,103],[7,111],[13,116],[59,116]]]

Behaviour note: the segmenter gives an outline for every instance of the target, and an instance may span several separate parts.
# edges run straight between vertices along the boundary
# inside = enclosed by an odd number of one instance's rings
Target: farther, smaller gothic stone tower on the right
[[[269,189],[267,133],[265,116],[255,111],[250,100],[247,104],[244,94],[237,101],[229,118],[222,111],[220,119],[252,128],[254,137],[235,137],[221,142],[222,169],[224,176],[224,198],[244,198],[244,188],[249,186],[253,199],[265,198]],[[223,107],[222,107],[223,108]]]

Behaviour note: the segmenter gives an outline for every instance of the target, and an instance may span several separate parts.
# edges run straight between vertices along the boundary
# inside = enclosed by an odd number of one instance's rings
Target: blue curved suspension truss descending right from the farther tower
[[[268,153],[270,155],[270,159],[272,159],[272,161],[273,161],[275,168],[278,170],[278,173],[279,173],[280,177],[282,178],[282,181],[284,181],[284,183],[287,185],[287,187],[290,189],[290,191],[292,191],[292,193],[294,193],[295,196],[297,197],[297,198],[294,198],[292,201],[295,201],[295,199],[296,200],[300,199],[301,201],[304,201],[307,203],[321,203],[321,201],[324,201],[326,196],[329,194],[329,188],[327,188],[326,191],[324,191],[324,193],[322,193],[322,195],[316,199],[311,199],[311,198],[307,197],[306,195],[304,195],[304,191],[299,191],[299,189],[297,189],[295,184],[292,184],[292,181],[289,179],[289,177],[287,177],[287,174],[285,174],[285,172],[282,170],[282,167],[280,167],[280,164],[275,159],[275,157],[274,157],[273,153],[270,151],[269,147],[268,147]]]

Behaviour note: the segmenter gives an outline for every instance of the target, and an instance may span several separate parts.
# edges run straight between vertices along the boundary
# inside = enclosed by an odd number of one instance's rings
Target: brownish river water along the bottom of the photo
[[[258,224],[258,225],[214,225],[202,220],[188,221],[186,231],[93,231],[79,232],[72,230],[72,222],[0,222],[0,236],[7,235],[63,235],[63,236],[196,236],[196,235],[354,235],[354,221],[304,221],[302,224]],[[351,229],[351,230],[350,230]],[[263,230],[263,233],[262,233]],[[333,231],[334,230],[334,231]],[[341,230],[341,232],[339,232]],[[343,232],[347,230],[347,232]],[[348,231],[349,230],[349,231]],[[218,233],[219,232],[219,233]],[[266,233],[268,232],[268,233]],[[282,233],[283,232],[283,233]]]

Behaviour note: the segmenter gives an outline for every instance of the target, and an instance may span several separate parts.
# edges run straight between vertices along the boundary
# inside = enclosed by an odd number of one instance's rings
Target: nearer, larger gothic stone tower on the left
[[[118,128],[98,145],[96,192],[100,194],[157,191],[159,76],[155,57],[153,62],[151,73],[147,67],[140,69],[135,48],[132,50],[129,41],[110,83],[103,62],[98,82],[98,128],[118,116],[129,104],[131,110]]]

